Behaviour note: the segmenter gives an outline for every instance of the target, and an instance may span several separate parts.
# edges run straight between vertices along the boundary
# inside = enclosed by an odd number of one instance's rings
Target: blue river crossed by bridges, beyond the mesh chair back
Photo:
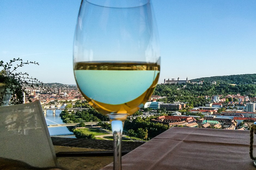
[[[65,106],[61,106],[63,108]],[[56,113],[53,114],[52,110],[47,110],[46,114],[44,114],[45,121],[48,124],[63,124],[64,122],[60,118],[61,110],[56,110]],[[70,132],[67,127],[50,127],[48,128],[50,136],[53,137],[69,137],[75,138],[74,133]]]

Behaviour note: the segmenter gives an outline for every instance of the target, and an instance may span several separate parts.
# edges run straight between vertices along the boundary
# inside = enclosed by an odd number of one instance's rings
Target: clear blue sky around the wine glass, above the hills
[[[20,71],[75,84],[73,38],[80,0],[0,0],[0,60],[38,62]],[[161,48],[159,83],[256,73],[256,1],[152,0]]]

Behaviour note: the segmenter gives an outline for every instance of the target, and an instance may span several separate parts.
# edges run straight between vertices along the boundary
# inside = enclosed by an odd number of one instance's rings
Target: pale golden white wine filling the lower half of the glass
[[[75,78],[83,96],[100,113],[130,116],[152,95],[159,78],[155,63],[79,62]]]

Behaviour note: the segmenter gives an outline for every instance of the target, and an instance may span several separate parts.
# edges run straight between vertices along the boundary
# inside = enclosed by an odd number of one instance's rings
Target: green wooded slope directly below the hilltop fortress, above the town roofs
[[[199,106],[207,102],[204,96],[223,95],[225,97],[228,94],[236,95],[237,93],[255,97],[256,84],[239,84],[235,86],[230,84],[212,85],[210,82],[203,82],[202,85],[191,83],[158,84],[153,95],[166,96],[166,98],[157,100],[165,103],[181,101],[188,102],[191,106]]]

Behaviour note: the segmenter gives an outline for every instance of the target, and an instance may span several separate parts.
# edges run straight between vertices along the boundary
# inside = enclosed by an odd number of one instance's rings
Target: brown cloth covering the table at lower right
[[[248,130],[172,127],[124,155],[122,169],[256,169],[249,140]]]

